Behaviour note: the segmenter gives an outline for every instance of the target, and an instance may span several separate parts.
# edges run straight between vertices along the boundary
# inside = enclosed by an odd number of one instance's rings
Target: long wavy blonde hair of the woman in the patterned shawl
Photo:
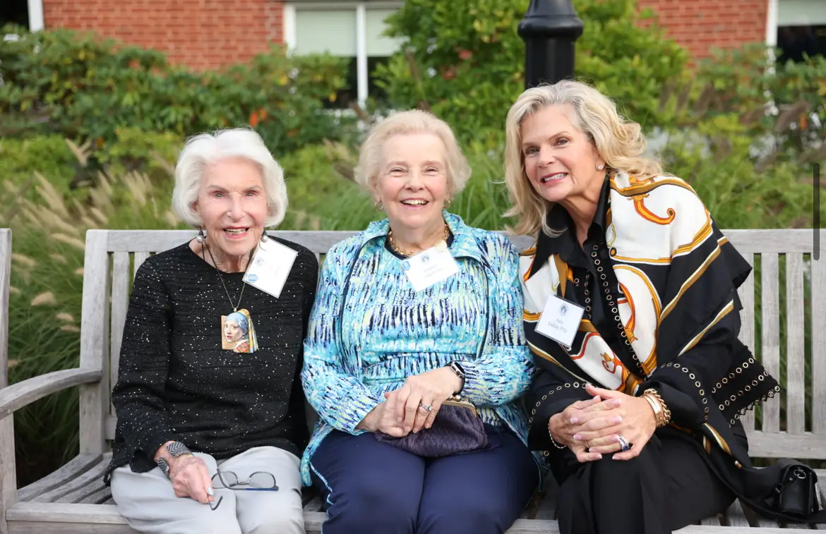
[[[522,122],[547,106],[570,107],[573,125],[591,139],[609,169],[639,179],[663,174],[657,161],[643,156],[647,143],[640,125],[620,116],[615,102],[594,87],[572,80],[531,87],[510,106],[505,121],[505,182],[511,203],[505,215],[517,217],[511,230],[516,234],[535,234],[542,229],[550,236],[558,235],[548,226],[553,202],[546,201],[530,184],[522,154]]]

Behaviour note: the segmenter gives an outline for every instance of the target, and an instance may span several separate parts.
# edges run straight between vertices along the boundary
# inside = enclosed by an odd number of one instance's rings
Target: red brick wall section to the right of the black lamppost
[[[733,48],[766,40],[768,0],[638,0],[659,25],[695,59],[713,48]]]

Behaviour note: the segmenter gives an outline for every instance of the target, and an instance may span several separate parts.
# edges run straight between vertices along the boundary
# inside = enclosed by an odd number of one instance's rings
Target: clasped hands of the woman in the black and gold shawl
[[[638,456],[657,429],[651,405],[642,397],[587,385],[592,398],[579,400],[548,420],[553,440],[567,446],[580,462],[601,460],[614,453],[614,460]],[[631,448],[622,451],[620,437]]]

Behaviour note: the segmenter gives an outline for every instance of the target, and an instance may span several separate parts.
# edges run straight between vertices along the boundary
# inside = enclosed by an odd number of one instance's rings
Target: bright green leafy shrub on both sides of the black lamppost
[[[462,139],[493,148],[524,90],[525,45],[516,32],[528,0],[406,0],[388,17],[406,50],[376,76],[391,107],[429,106]],[[584,32],[576,75],[624,103],[644,126],[659,124],[658,99],[681,78],[688,55],[634,0],[577,0]],[[648,27],[641,27],[648,24]],[[434,38],[434,35],[438,37]]]

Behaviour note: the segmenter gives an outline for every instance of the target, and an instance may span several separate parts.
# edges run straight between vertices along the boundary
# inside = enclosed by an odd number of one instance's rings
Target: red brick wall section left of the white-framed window
[[[271,0],[43,0],[43,12],[47,29],[95,31],[193,69],[243,62],[283,40],[283,5]]]

